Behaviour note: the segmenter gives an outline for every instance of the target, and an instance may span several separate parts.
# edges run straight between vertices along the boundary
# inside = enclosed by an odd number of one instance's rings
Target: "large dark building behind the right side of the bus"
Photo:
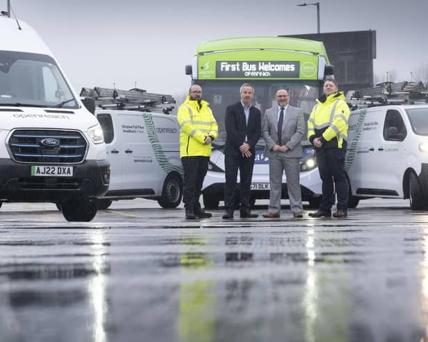
[[[373,87],[373,60],[376,58],[376,31],[349,31],[280,35],[318,40],[324,43],[327,55],[334,65],[334,76],[340,90]]]

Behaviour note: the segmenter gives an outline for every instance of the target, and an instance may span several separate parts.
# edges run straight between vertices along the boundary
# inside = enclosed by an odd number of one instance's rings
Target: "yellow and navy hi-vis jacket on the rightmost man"
[[[346,148],[349,107],[343,92],[321,96],[308,119],[308,140],[321,137],[322,148]]]

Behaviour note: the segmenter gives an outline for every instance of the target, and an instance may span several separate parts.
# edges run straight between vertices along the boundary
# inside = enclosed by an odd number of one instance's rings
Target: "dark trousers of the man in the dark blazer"
[[[254,157],[242,157],[242,155],[225,155],[224,166],[226,173],[226,185],[224,187],[224,207],[233,212],[235,201],[236,180],[238,170],[240,177],[240,211],[249,212],[249,196],[251,180],[253,177]]]

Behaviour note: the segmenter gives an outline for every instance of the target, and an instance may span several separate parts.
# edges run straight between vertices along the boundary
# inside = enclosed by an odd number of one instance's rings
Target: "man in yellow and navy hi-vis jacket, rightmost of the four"
[[[347,216],[349,185],[345,173],[345,154],[349,107],[343,92],[338,92],[334,78],[324,80],[324,95],[316,101],[308,119],[308,139],[315,147],[315,157],[322,180],[322,201],[311,217],[330,217],[337,194],[335,217]]]

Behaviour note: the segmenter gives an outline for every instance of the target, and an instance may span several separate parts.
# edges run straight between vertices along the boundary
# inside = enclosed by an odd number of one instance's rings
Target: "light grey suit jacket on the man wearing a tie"
[[[265,139],[265,156],[271,157],[275,153],[272,148],[275,144],[278,144],[278,107],[269,108],[266,110],[261,122],[261,133],[263,139]],[[284,120],[282,124],[282,144],[290,148],[286,152],[286,157],[302,157],[302,137],[304,135],[304,117],[303,112],[299,108],[288,105],[286,112],[284,113]]]

